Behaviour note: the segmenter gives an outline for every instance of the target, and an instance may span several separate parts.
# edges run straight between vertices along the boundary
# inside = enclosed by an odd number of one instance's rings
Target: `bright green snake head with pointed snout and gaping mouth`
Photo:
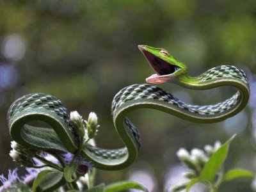
[[[150,47],[148,45],[138,45],[138,48],[156,72],[156,74],[147,77],[147,83],[165,83],[187,72],[186,65],[175,60],[166,49]]]

